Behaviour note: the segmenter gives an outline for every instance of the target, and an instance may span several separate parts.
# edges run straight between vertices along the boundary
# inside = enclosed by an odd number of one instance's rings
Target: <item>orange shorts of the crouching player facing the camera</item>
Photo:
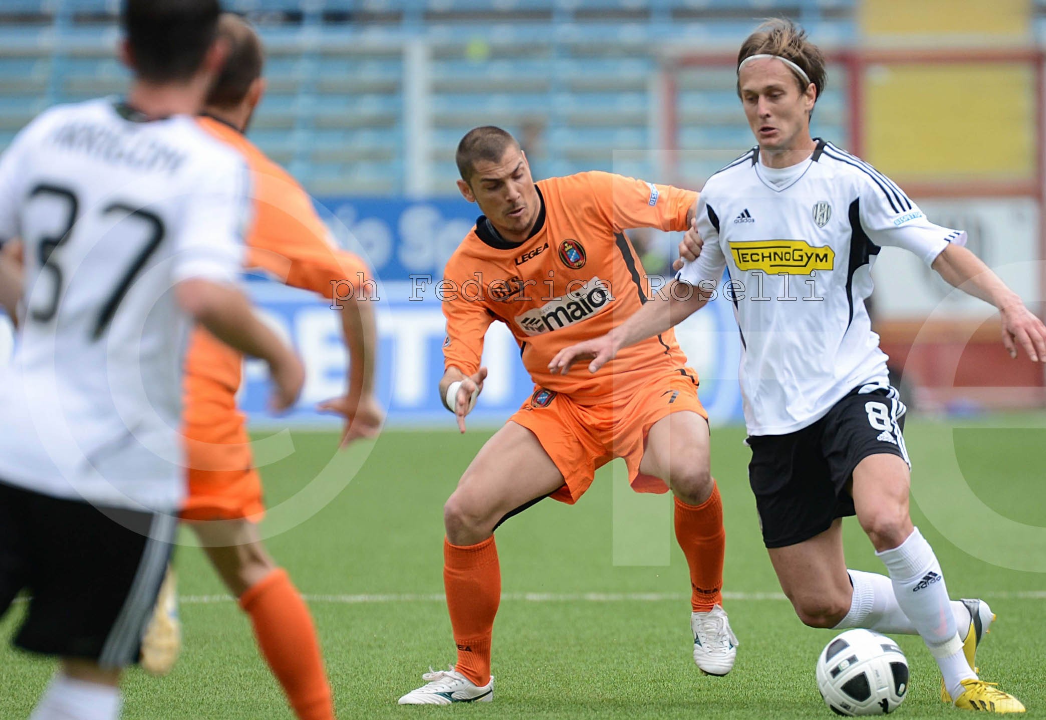
[[[624,458],[636,492],[668,492],[661,478],[641,475],[639,464],[651,427],[684,410],[708,420],[698,400],[697,373],[689,367],[653,373],[634,392],[592,405],[536,387],[509,420],[533,432],[563,473],[565,482],[551,497],[573,504],[592,485],[595,471],[615,457]]]

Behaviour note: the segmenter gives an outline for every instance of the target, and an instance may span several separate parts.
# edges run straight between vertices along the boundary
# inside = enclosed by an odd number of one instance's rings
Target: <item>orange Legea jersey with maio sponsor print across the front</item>
[[[486,329],[500,320],[533,382],[577,402],[638,387],[651,370],[684,367],[668,331],[626,347],[595,375],[587,363],[566,376],[548,372],[560,350],[604,335],[646,301],[650,282],[624,230],[686,230],[698,194],[599,172],[537,185],[542,209],[528,240],[509,244],[480,217],[447,263],[445,366],[475,373]]]

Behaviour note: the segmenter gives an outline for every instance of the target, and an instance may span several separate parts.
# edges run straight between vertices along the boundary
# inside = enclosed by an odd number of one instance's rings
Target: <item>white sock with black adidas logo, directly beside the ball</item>
[[[893,549],[876,553],[886,565],[897,605],[937,660],[945,685],[953,698],[962,694],[962,680],[976,678],[959,639],[948,588],[933,548],[916,527]]]

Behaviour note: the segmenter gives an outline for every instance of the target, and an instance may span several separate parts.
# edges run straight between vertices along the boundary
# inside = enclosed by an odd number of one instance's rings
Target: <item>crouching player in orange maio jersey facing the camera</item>
[[[627,228],[685,230],[696,193],[608,173],[535,182],[519,143],[499,128],[470,131],[458,187],[483,215],[447,264],[446,373],[439,391],[460,430],[482,389],[483,337],[504,322],[533,395],[465,470],[444,509],[444,581],[457,663],[424,676],[402,704],[490,701],[491,638],[501,595],[495,528],[543,497],[575,502],[597,468],[623,457],[632,487],[676,495],[676,537],[690,570],[693,656],[733,667],[736,638],[722,608],[724,531],[709,472],[707,413],[673,333],[651,338],[595,376],[552,375],[555,352],[596,337],[650,293]]]

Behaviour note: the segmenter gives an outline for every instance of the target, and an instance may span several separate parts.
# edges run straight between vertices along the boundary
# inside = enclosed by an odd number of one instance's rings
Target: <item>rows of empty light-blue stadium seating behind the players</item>
[[[1046,6],[1046,0],[1036,0]],[[314,193],[454,193],[454,149],[482,123],[517,134],[539,175],[586,168],[653,177],[666,40],[732,48],[787,12],[812,35],[852,38],[856,0],[225,0],[267,47],[269,93],[250,136]],[[0,0],[0,147],[43,108],[118,94],[119,0]],[[418,60],[413,48],[424,45]],[[420,63],[418,65],[417,63]],[[424,70],[423,74],[417,68]],[[678,76],[678,140],[698,180],[751,144],[729,67]],[[818,105],[845,143],[844,97]],[[425,133],[428,187],[407,150]],[[410,161],[416,161],[417,156]]]

